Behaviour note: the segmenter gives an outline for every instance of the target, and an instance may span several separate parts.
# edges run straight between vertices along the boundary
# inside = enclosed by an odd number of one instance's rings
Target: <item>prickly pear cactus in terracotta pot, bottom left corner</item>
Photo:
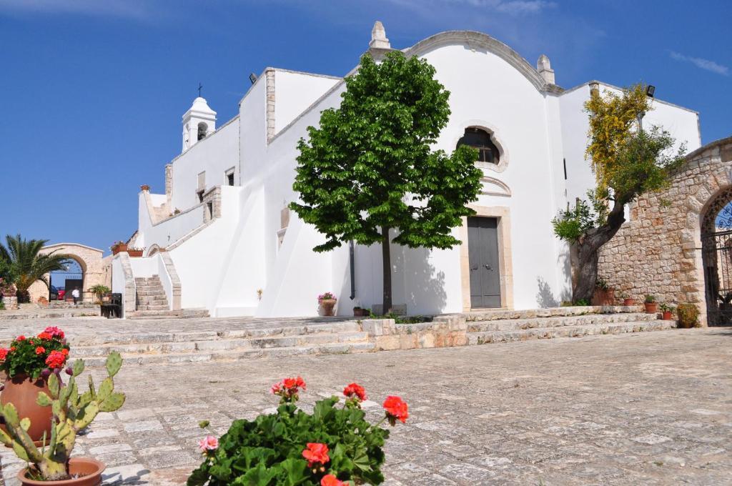
[[[41,449],[33,444],[26,432],[33,422],[20,418],[12,403],[3,406],[0,414],[5,419],[7,433],[0,433],[0,441],[12,447],[20,459],[30,466],[18,472],[20,484],[28,486],[97,486],[102,484],[105,466],[98,460],[71,457],[80,430],[89,427],[100,412],[119,410],[124,403],[124,393],[114,391],[113,377],[122,366],[122,356],[113,351],[105,364],[108,377],[99,389],[89,376],[89,390],[79,395],[76,377],[84,370],[84,362],[77,359],[66,373],[71,375],[64,384],[60,375],[48,378],[48,392],[39,392],[37,403],[53,410],[53,430],[44,437]]]

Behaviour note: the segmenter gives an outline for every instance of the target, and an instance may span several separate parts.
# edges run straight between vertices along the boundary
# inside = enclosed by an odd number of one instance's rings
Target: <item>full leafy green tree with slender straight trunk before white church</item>
[[[398,51],[378,64],[364,55],[340,108],[323,111],[320,127],[308,127],[309,141],[298,143],[293,187],[302,203],[291,209],[326,236],[316,252],[348,240],[381,243],[384,313],[392,308],[389,242],[460,244],[451,230],[474,214],[466,204],[480,188],[475,149],[431,149],[450,114],[449,91],[434,75],[427,61]]]

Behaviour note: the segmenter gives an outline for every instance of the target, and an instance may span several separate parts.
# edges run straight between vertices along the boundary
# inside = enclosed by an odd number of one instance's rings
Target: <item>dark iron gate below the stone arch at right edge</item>
[[[732,326],[732,230],[701,236],[709,326]]]

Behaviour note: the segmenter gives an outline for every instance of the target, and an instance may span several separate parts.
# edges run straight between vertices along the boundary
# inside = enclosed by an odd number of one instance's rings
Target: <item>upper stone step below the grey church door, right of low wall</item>
[[[496,319],[488,321],[468,321],[468,332],[512,331],[547,327],[586,326],[591,324],[610,324],[635,321],[655,321],[655,314],[616,313],[561,315],[542,318]]]

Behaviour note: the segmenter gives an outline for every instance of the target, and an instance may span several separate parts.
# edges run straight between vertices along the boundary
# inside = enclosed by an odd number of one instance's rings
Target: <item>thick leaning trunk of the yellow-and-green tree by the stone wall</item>
[[[579,300],[588,304],[592,300],[597,283],[597,262],[600,260],[600,248],[610,241],[624,223],[624,204],[616,201],[613,210],[608,214],[605,225],[593,228],[584,234],[577,243],[577,257],[579,269],[577,282],[572,288],[572,302]]]

